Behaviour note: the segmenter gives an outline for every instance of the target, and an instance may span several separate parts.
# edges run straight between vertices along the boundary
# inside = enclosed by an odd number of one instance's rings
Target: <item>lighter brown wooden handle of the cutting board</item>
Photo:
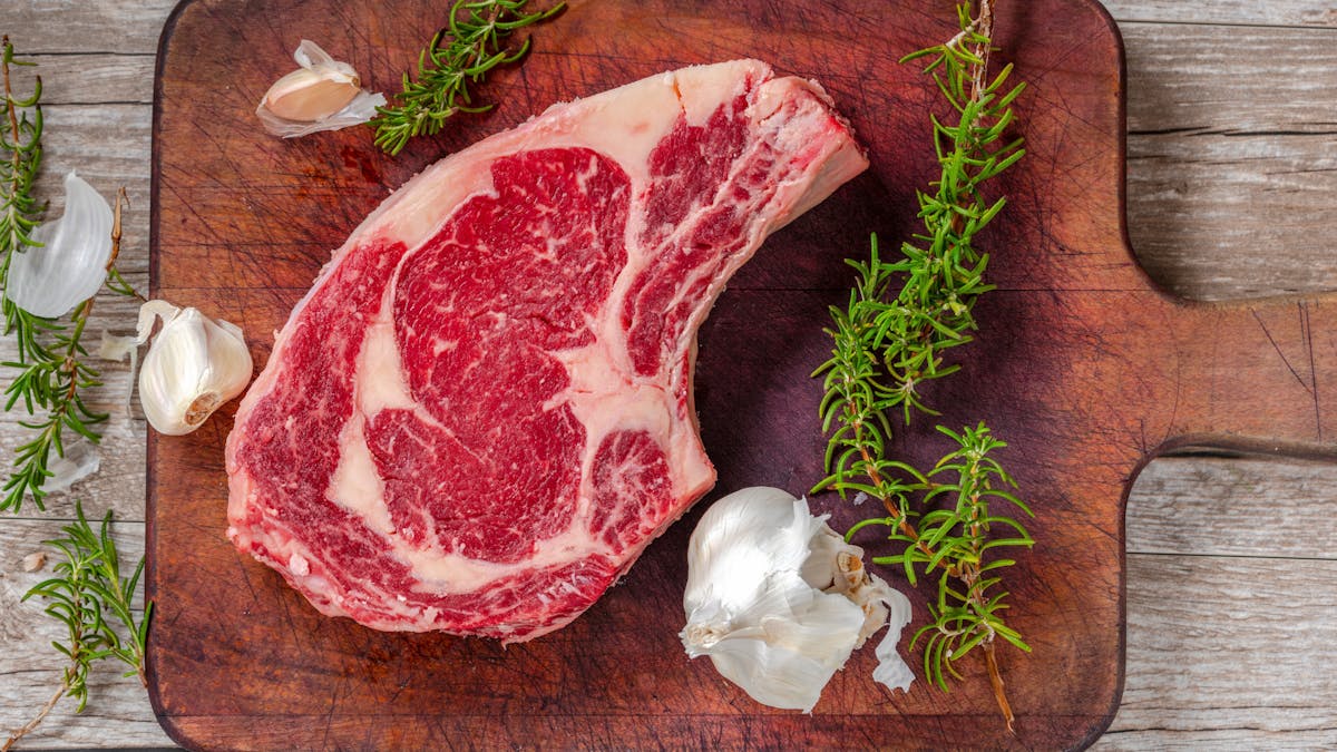
[[[1170,305],[1169,446],[1337,459],[1337,294]]]

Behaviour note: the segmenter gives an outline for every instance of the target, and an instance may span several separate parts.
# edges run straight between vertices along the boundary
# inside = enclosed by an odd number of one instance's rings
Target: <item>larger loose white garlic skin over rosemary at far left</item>
[[[111,205],[74,171],[66,174],[66,210],[32,231],[41,244],[9,261],[4,294],[15,305],[57,318],[98,294],[111,258]]]

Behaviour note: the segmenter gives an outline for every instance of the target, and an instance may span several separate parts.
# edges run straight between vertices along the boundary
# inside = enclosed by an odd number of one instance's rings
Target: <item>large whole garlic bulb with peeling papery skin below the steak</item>
[[[813,516],[805,499],[778,488],[745,488],[701,518],[687,549],[689,657],[715,669],[754,700],[810,712],[850,652],[890,620],[874,678],[909,689],[896,653],[909,601],[868,574],[862,550]]]

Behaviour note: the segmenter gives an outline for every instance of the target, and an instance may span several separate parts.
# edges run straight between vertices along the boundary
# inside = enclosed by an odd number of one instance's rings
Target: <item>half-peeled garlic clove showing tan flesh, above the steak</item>
[[[283,138],[333,131],[365,123],[385,104],[385,96],[361,88],[357,71],[303,39],[293,52],[301,66],[282,76],[255,108],[265,130]]]

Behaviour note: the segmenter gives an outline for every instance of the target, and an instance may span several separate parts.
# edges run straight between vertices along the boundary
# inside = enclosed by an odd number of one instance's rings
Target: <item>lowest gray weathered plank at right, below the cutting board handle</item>
[[[1333,582],[1334,561],[1130,555],[1123,704],[1098,748],[1337,747]]]

